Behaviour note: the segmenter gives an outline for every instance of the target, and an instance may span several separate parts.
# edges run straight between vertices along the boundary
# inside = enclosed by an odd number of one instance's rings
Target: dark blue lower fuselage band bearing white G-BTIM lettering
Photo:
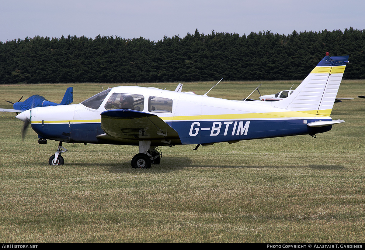
[[[322,119],[322,121],[330,119]],[[323,133],[332,128],[325,126],[312,128],[308,123],[318,120],[251,120],[251,121],[170,121],[181,144],[204,144],[213,142],[252,140],[258,138],[294,136],[300,134]],[[97,135],[103,134],[100,123],[77,124],[32,124],[32,129],[40,136],[56,141],[100,143]],[[115,142],[118,144],[118,142]]]

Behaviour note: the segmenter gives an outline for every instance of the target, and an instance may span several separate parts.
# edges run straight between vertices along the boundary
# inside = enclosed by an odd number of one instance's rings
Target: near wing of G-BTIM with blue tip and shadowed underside
[[[180,138],[176,130],[155,114],[130,109],[115,109],[101,113],[99,139],[124,141],[126,144],[151,141],[151,144],[174,144]]]

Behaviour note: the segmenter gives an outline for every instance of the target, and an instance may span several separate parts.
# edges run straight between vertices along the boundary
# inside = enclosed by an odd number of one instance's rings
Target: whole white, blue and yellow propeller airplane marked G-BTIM
[[[133,168],[160,164],[159,146],[212,145],[327,132],[349,56],[324,56],[287,98],[233,101],[153,87],[121,86],[65,106],[32,108],[16,116],[30,123],[40,144],[59,141],[50,165],[64,164],[62,142],[138,145]],[[209,92],[209,91],[208,91]]]

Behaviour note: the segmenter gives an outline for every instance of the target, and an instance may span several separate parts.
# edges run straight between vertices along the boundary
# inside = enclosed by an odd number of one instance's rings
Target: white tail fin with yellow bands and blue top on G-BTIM
[[[330,116],[349,56],[326,56],[276,108]]]

